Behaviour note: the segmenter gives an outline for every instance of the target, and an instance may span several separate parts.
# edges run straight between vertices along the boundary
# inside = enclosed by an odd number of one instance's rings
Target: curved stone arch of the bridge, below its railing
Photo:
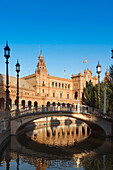
[[[65,112],[64,113],[57,112],[57,113],[54,113],[54,114],[53,114],[53,112],[51,112],[51,113],[46,113],[46,114],[43,114],[43,115],[42,115],[42,113],[41,114],[35,113],[35,114],[24,115],[20,118],[12,119],[11,120],[11,131],[12,131],[11,133],[13,135],[17,135],[24,129],[24,127],[27,124],[33,122],[34,120],[41,119],[41,118],[44,118],[44,117],[54,117],[54,116],[60,116],[60,117],[66,116],[66,117],[69,117],[69,118],[75,118],[77,120],[83,121],[86,124],[88,124],[88,126],[92,129],[92,132],[94,134],[98,134],[100,136],[106,136],[105,129],[103,129],[101,127],[101,125],[96,124],[91,120],[85,119],[84,115],[83,115],[83,117],[81,117],[81,114],[70,114],[70,113],[65,113]],[[76,129],[76,134],[77,133],[78,132],[77,132],[77,129]]]

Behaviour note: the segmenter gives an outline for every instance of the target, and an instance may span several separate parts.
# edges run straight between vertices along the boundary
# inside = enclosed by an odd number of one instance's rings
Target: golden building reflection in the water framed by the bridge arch
[[[26,132],[26,136],[37,143],[62,147],[81,142],[90,134],[91,130],[86,123],[35,127],[33,131]]]

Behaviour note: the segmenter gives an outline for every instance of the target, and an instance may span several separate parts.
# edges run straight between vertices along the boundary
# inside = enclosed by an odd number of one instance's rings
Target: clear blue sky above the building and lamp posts
[[[40,49],[47,71],[70,78],[89,68],[96,74],[101,65],[101,81],[113,64],[113,0],[1,0],[0,73],[6,74],[4,47],[11,48],[9,74],[34,74]],[[87,63],[83,63],[87,59]]]

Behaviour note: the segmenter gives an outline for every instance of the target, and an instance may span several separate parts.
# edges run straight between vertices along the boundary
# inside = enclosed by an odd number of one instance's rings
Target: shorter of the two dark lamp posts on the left
[[[19,72],[20,72],[20,64],[18,63],[17,60],[17,64],[16,64],[16,72],[17,72],[17,112],[19,110]]]

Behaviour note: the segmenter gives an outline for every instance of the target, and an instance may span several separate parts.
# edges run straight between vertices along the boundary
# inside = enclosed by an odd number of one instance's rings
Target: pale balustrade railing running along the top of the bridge
[[[103,114],[99,112],[98,109],[94,109],[92,107],[86,106],[86,105],[80,105],[75,104],[71,106],[42,106],[42,107],[24,107],[19,110],[12,110],[9,113],[8,112],[0,112],[0,119],[6,119],[6,118],[15,118],[18,116],[23,116],[27,114],[32,113],[48,113],[48,112],[74,112],[74,113],[83,113],[83,114],[92,114],[95,116],[101,116],[103,117]]]

